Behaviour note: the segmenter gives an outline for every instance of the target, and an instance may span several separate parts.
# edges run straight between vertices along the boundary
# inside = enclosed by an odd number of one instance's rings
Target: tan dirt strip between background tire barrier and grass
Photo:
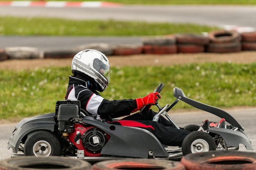
[[[111,66],[125,65],[173,65],[185,63],[205,62],[256,62],[256,51],[243,51],[235,53],[191,53],[191,54],[140,54],[129,56],[108,56]],[[19,70],[32,69],[45,66],[69,66],[72,58],[67,59],[10,59],[0,61],[0,69]]]

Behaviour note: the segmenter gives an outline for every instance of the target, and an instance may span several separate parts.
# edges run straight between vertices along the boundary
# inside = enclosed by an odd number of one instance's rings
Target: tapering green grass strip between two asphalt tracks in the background
[[[0,35],[137,36],[200,33],[216,29],[197,24],[0,17]]]

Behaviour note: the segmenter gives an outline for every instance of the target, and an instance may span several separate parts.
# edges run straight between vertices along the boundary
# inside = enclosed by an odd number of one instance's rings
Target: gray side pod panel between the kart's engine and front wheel
[[[101,150],[103,155],[148,158],[151,152],[154,157],[168,157],[155,135],[145,129],[103,123],[89,116],[85,116],[82,122],[97,126],[110,135]]]

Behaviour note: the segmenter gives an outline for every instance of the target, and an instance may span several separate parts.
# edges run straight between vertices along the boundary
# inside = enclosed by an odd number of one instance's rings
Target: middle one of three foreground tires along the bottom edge
[[[121,159],[101,161],[92,166],[92,170],[186,170],[178,161],[163,159]]]

